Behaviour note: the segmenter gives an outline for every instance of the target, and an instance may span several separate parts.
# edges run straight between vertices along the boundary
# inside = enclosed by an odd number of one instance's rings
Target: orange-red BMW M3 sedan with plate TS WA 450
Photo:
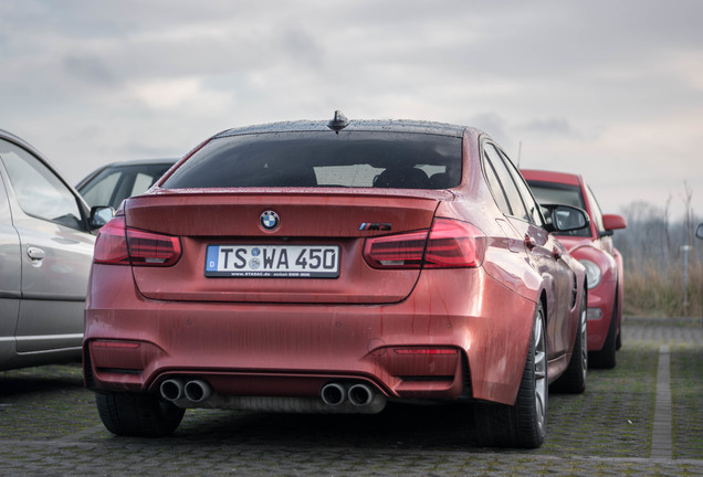
[[[483,444],[539,446],[549,384],[580,392],[588,368],[585,269],[552,235],[588,218],[546,215],[478,129],[225,130],[101,230],[86,386],[120,435],[191,407],[459,401]]]

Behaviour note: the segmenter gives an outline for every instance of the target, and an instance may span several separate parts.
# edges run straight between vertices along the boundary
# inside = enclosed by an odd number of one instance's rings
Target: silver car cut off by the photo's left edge
[[[59,171],[0,129],[0,370],[81,359],[92,222]]]

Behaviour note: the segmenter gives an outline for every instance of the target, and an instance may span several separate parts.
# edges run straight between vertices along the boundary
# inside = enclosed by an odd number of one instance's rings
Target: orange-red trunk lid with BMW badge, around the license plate
[[[179,236],[182,247],[174,266],[133,267],[139,293],[151,299],[186,301],[396,303],[411,293],[420,271],[371,268],[363,256],[365,239],[429,230],[439,202],[453,197],[443,190],[291,192],[161,190],[129,199],[125,204],[128,227]],[[280,221],[273,231],[261,221],[267,211]],[[234,269],[237,258],[238,265],[246,263],[251,271],[255,252],[261,258],[256,273],[266,267],[288,273],[206,276],[208,257],[223,250],[229,269]],[[224,255],[220,252],[220,266]],[[322,277],[297,273],[312,269],[321,259],[332,265],[337,257],[338,269]],[[294,268],[297,272],[290,272]]]

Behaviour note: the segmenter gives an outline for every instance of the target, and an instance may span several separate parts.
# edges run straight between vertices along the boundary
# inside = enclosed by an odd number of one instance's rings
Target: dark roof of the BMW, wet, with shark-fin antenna
[[[224,130],[218,135],[219,137],[228,136],[241,136],[252,134],[267,134],[267,132],[309,132],[309,131],[329,131],[334,129],[329,126],[330,121],[327,120],[295,120],[284,123],[271,123],[255,126],[244,126],[240,128],[232,128]],[[442,136],[455,136],[462,137],[466,129],[471,129],[480,132],[478,129],[466,126],[459,126],[447,123],[422,121],[422,120],[408,120],[408,119],[395,119],[395,120],[368,120],[368,119],[350,119],[347,126],[340,128],[340,130],[360,130],[360,131],[390,131],[390,132],[415,132],[415,134],[429,134],[429,135],[442,135]]]

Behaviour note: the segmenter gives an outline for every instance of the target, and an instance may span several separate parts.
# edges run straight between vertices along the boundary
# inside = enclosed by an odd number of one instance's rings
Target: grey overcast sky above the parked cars
[[[2,0],[0,128],[71,182],[335,109],[475,126],[604,212],[703,215],[703,1]]]

